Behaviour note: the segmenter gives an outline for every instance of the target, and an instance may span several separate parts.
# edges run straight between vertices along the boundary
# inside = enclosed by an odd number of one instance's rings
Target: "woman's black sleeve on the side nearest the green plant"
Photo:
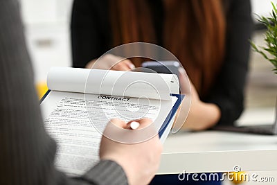
[[[249,62],[249,39],[253,28],[249,0],[229,1],[226,13],[226,56],[207,102],[220,107],[219,124],[232,124],[244,108],[244,85]]]

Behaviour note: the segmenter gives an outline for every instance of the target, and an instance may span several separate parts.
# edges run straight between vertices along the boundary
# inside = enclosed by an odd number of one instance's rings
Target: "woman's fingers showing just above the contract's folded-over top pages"
[[[116,55],[107,54],[98,60],[91,60],[91,62],[87,63],[86,68],[129,71],[135,67],[131,60],[123,59]]]

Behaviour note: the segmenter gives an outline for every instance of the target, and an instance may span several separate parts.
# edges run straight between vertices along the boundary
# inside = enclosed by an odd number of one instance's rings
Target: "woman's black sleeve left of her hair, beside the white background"
[[[108,1],[74,0],[71,15],[73,67],[85,67],[109,50]]]

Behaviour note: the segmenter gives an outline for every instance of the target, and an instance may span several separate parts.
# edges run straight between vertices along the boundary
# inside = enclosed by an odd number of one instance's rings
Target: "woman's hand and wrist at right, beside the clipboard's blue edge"
[[[188,82],[186,81],[184,71],[180,71],[179,81],[181,85],[181,93],[188,94]],[[185,89],[186,88],[186,89]],[[189,97],[188,97],[189,98]],[[190,109],[188,117],[182,128],[187,130],[206,130],[213,127],[220,119],[220,108],[213,103],[204,103],[200,100],[197,90],[192,82],[190,82]],[[182,107],[188,106],[188,101],[184,100]],[[186,111],[180,111],[180,115],[184,121]]]

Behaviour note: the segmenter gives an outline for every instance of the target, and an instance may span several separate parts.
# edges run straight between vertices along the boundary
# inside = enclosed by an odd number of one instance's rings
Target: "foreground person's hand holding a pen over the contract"
[[[150,119],[143,118],[139,122],[139,130],[152,123]],[[113,119],[108,124],[114,124],[124,130],[132,129],[130,123],[119,119]],[[105,132],[109,132],[109,126]],[[105,133],[104,132],[104,133]],[[142,132],[143,133],[143,132]],[[120,134],[119,132],[117,134]],[[131,133],[132,134],[132,133]],[[118,143],[102,136],[100,144],[100,159],[116,161],[125,170],[130,185],[148,184],[159,168],[162,146],[159,136],[156,135],[141,143]]]

